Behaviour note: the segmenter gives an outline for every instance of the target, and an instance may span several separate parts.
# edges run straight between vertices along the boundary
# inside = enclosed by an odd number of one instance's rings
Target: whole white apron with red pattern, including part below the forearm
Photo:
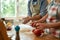
[[[50,7],[50,8],[49,8]],[[48,18],[46,20],[47,23],[54,23],[60,21],[60,4],[53,3],[53,5],[48,7]],[[52,29],[52,28],[51,28]],[[53,28],[54,29],[54,28]],[[56,29],[53,33],[55,37],[60,38],[60,29]]]

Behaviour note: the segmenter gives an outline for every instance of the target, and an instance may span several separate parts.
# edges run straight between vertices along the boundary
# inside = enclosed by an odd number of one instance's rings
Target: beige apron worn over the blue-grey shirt
[[[32,12],[32,16],[38,15],[40,13],[40,0],[36,0],[35,2],[31,0],[30,10]]]

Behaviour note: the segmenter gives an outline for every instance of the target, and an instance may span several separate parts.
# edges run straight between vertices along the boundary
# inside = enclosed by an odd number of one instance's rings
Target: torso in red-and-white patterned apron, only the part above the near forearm
[[[47,19],[47,22],[51,20],[54,20],[55,22],[60,21],[60,5],[53,3],[53,5],[50,5],[50,7],[48,7]]]

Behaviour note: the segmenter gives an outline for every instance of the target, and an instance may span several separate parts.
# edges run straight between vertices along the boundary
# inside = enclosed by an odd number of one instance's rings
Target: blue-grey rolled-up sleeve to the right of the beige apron
[[[47,5],[47,0],[40,0],[40,16],[44,16],[47,13]]]

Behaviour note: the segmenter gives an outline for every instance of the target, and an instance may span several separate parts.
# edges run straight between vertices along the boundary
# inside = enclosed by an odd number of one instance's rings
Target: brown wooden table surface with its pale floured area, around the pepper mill
[[[14,31],[12,31],[13,33],[15,33]],[[8,32],[9,33],[9,32]],[[10,32],[11,34],[11,32]],[[31,30],[22,30],[19,32],[19,35],[20,35],[20,40],[59,40],[58,38],[56,37],[53,37],[51,35],[44,35],[44,36],[35,36]],[[15,34],[14,36],[12,37],[12,40],[15,40]]]

